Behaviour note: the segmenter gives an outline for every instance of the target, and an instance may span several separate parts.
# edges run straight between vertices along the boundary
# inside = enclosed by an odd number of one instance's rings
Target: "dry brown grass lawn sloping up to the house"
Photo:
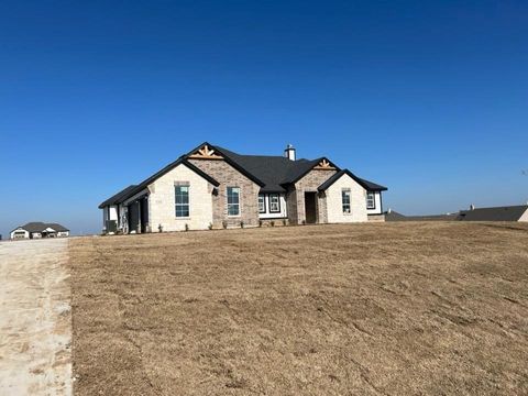
[[[528,227],[70,241],[78,395],[528,394]]]

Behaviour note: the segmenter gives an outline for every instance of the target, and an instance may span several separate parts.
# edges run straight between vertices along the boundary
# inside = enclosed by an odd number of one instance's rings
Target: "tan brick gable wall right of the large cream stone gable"
[[[228,222],[228,227],[240,227],[241,221],[248,227],[258,226],[258,191],[261,187],[256,183],[222,160],[189,160],[189,162],[220,183],[218,195],[212,197],[215,228],[221,228],[223,221]],[[240,216],[228,216],[228,187],[240,187]]]

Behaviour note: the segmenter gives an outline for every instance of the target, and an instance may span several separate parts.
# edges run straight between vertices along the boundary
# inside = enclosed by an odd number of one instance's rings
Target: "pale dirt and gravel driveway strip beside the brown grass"
[[[72,395],[66,239],[0,243],[0,395]]]

